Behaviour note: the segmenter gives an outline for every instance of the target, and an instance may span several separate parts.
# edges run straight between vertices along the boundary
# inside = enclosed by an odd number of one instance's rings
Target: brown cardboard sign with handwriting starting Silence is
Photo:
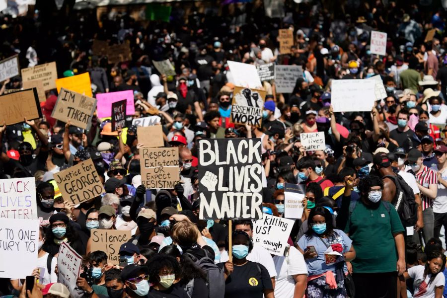
[[[131,231],[121,230],[91,230],[91,251],[103,251],[107,255],[107,262],[113,265],[120,264],[120,246],[132,238]]]

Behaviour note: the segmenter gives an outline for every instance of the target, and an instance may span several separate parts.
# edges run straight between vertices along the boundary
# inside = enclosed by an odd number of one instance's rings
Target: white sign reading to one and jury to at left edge
[[[37,267],[38,220],[0,219],[0,278],[18,279]]]

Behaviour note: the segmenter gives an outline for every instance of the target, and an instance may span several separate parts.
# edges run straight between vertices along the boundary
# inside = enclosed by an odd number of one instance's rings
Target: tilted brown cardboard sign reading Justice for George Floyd
[[[91,158],[54,174],[64,200],[80,204],[105,193]]]

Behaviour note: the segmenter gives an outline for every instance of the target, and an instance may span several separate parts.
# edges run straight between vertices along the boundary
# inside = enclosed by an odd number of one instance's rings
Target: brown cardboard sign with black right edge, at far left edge
[[[0,123],[6,125],[42,118],[36,88],[20,90],[0,96]]]

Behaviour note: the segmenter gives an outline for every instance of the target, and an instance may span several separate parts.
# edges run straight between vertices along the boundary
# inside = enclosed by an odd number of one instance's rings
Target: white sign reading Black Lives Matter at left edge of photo
[[[0,218],[37,220],[34,178],[0,179]]]

